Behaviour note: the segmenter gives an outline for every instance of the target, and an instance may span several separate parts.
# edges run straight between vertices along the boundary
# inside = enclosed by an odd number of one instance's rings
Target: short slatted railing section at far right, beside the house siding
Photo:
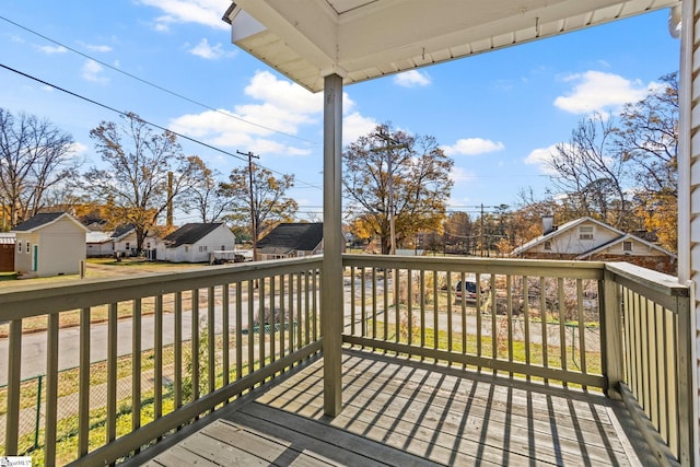
[[[605,280],[622,318],[625,340],[608,350],[621,352],[618,390],[662,465],[696,465],[689,288],[625,262],[607,264]]]

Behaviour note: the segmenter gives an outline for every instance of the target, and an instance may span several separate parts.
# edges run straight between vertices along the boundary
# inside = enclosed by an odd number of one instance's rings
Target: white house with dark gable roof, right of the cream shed
[[[206,262],[217,250],[233,250],[235,236],[223,222],[185,224],[159,243],[158,259]]]

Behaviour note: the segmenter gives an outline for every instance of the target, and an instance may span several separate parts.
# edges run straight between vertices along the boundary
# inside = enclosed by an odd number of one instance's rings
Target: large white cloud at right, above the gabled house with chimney
[[[572,114],[605,113],[605,109],[640,101],[649,90],[640,81],[602,71],[570,74],[564,81],[573,83],[573,89],[568,95],[557,97],[555,106]]]

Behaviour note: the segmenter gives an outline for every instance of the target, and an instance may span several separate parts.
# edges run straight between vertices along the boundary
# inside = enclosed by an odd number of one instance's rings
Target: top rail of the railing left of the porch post
[[[50,284],[20,284],[16,288],[0,290],[0,319],[25,318],[45,313],[243,282],[272,275],[320,268],[322,265],[322,256],[311,256],[229,266],[206,266],[191,271],[137,275],[128,278],[75,279]]]

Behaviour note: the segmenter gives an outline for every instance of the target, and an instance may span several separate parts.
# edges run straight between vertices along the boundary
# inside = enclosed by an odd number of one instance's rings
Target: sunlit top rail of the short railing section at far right
[[[688,297],[690,288],[678,282],[678,278],[653,271],[629,262],[606,262],[605,270],[612,275],[612,280],[630,289],[644,293],[652,291],[656,294]]]

